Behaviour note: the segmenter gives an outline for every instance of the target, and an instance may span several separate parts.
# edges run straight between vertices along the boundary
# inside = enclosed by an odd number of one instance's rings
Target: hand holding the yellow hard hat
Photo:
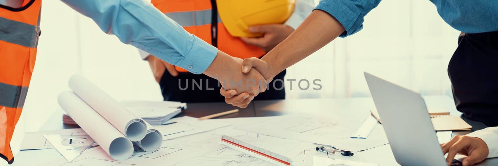
[[[241,39],[250,45],[259,47],[264,52],[269,52],[294,32],[294,29],[285,24],[268,24],[251,26],[249,27],[249,31],[252,33],[263,33],[263,36],[241,37]]]

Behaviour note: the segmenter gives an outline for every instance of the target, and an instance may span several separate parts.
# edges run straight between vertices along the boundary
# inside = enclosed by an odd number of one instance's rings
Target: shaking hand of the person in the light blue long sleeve
[[[204,74],[217,79],[225,89],[234,89],[236,94],[247,92],[256,96],[266,90],[266,80],[256,70],[241,72],[243,60],[218,51]]]

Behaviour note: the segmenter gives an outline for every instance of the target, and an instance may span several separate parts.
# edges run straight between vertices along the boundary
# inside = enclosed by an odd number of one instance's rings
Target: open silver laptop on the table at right
[[[396,162],[402,166],[447,166],[422,96],[364,74]],[[453,160],[453,165],[461,163]]]

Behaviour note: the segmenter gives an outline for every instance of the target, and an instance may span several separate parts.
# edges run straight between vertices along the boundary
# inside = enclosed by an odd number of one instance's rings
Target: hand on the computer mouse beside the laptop
[[[441,144],[443,154],[448,153],[446,162],[451,165],[457,153],[468,156],[462,161],[463,166],[472,166],[488,157],[489,149],[486,142],[476,137],[455,136],[451,141]]]

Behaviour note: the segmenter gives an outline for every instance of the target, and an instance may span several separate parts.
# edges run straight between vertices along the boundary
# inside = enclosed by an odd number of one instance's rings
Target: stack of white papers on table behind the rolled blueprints
[[[169,119],[187,108],[186,103],[175,101],[128,100],[120,103],[131,113],[141,117],[151,125],[165,124]],[[74,120],[66,114],[62,115],[62,122],[65,124],[76,124]]]

